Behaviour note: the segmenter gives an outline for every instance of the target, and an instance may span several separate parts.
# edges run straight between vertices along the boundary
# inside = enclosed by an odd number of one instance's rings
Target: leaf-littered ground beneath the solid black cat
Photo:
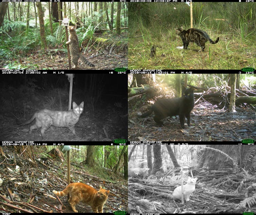
[[[158,126],[153,115],[138,118],[129,108],[128,141],[241,141],[256,139],[256,116],[252,110],[237,108],[236,113],[195,105],[191,112],[190,127],[180,127],[179,117],[163,120]],[[207,106],[207,104],[206,104]],[[144,111],[143,111],[144,113]]]

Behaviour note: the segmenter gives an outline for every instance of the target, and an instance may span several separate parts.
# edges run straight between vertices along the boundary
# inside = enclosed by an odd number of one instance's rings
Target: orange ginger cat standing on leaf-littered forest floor
[[[93,187],[83,183],[69,184],[66,189],[62,191],[52,191],[57,196],[66,196],[70,192],[68,200],[72,210],[78,212],[75,208],[78,202],[83,202],[92,207],[94,213],[103,213],[103,206],[107,201],[109,190],[102,189],[100,186],[99,191]]]

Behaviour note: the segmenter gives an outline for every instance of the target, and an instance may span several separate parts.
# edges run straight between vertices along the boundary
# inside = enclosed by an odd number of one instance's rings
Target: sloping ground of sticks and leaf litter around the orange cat
[[[66,197],[59,197],[60,202],[52,190],[62,191],[66,186],[67,166],[60,164],[58,160],[52,160],[51,157],[42,158],[42,154],[33,156],[32,161],[15,153],[14,148],[2,147],[4,152],[0,156],[0,177],[3,184],[0,185],[0,211],[3,213],[74,213],[67,202]],[[25,150],[23,151],[24,153]],[[22,152],[22,153],[23,153]],[[10,165],[11,164],[11,165]],[[14,165],[14,166],[13,166]],[[15,169],[15,165],[16,169]],[[104,172],[103,170],[100,170]],[[98,171],[97,171],[98,172]],[[108,174],[108,173],[106,173]],[[127,181],[118,177],[111,181],[103,180],[94,173],[85,170],[84,164],[72,163],[71,176],[73,182],[78,180],[82,183],[93,186],[96,190],[99,186],[110,190],[104,213],[113,213],[113,211],[128,211],[128,187]],[[62,204],[62,210],[61,208]],[[76,210],[79,213],[93,213],[90,206],[78,203]]]

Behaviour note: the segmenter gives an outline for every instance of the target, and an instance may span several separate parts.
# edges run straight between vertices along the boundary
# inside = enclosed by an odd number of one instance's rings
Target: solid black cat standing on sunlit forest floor
[[[148,112],[142,114],[141,118],[147,117],[154,112],[154,121],[163,125],[161,119],[168,116],[179,115],[180,126],[184,128],[185,117],[187,118],[187,125],[190,126],[190,112],[195,105],[194,89],[193,87],[185,88],[182,86],[182,97],[180,98],[167,98],[156,101]]]

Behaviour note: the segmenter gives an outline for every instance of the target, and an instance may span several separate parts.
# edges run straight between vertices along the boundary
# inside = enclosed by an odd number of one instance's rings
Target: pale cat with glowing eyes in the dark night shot
[[[77,105],[73,101],[73,110],[70,111],[50,111],[47,109],[37,111],[30,120],[22,123],[26,125],[36,119],[35,124],[30,126],[29,133],[31,134],[33,129],[41,127],[41,135],[44,138],[44,132],[51,125],[56,127],[68,127],[75,135],[75,124],[78,122],[81,113],[84,110],[84,102]]]

